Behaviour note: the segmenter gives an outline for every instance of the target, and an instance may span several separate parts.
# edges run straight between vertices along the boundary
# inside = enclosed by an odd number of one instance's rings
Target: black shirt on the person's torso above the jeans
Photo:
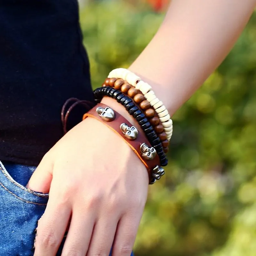
[[[0,160],[37,165],[70,97],[93,100],[76,0],[0,0]]]

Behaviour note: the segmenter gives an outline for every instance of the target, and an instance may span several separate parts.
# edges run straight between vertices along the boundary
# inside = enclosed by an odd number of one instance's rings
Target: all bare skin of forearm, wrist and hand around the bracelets
[[[172,0],[155,37],[130,70],[172,115],[228,54],[255,0]],[[135,121],[114,100],[103,103]],[[53,256],[70,221],[62,256],[128,256],[147,200],[148,174],[128,145],[87,118],[44,156],[28,187],[49,192],[35,256]]]

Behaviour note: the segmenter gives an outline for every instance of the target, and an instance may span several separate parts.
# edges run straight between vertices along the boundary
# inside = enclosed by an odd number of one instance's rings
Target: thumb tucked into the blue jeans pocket
[[[52,182],[53,161],[46,155],[28,181],[27,188],[36,192],[49,193]]]

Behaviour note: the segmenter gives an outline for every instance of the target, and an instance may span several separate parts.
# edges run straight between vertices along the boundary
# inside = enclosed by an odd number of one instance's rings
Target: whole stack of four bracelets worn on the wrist
[[[98,103],[107,96],[123,105],[144,134],[104,104],[98,104],[84,118],[95,117],[122,136],[146,166],[149,184],[155,183],[164,175],[160,166],[168,164],[165,153],[172,137],[172,120],[163,102],[156,97],[149,84],[124,68],[111,71],[102,87],[94,90],[93,94]]]

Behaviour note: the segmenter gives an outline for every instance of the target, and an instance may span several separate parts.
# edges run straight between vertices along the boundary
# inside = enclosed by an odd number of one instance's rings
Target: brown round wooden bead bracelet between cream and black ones
[[[123,92],[125,95],[128,95],[133,101],[135,101],[135,103],[140,106],[145,116],[148,118],[148,121],[153,125],[159,139],[161,140],[164,153],[167,153],[169,149],[169,140],[167,140],[167,134],[164,131],[164,126],[157,116],[155,109],[150,106],[149,101],[146,100],[140,91],[134,88],[131,84],[125,82],[123,79],[117,78],[106,78],[102,86],[111,86],[117,90],[120,89],[121,92]]]

